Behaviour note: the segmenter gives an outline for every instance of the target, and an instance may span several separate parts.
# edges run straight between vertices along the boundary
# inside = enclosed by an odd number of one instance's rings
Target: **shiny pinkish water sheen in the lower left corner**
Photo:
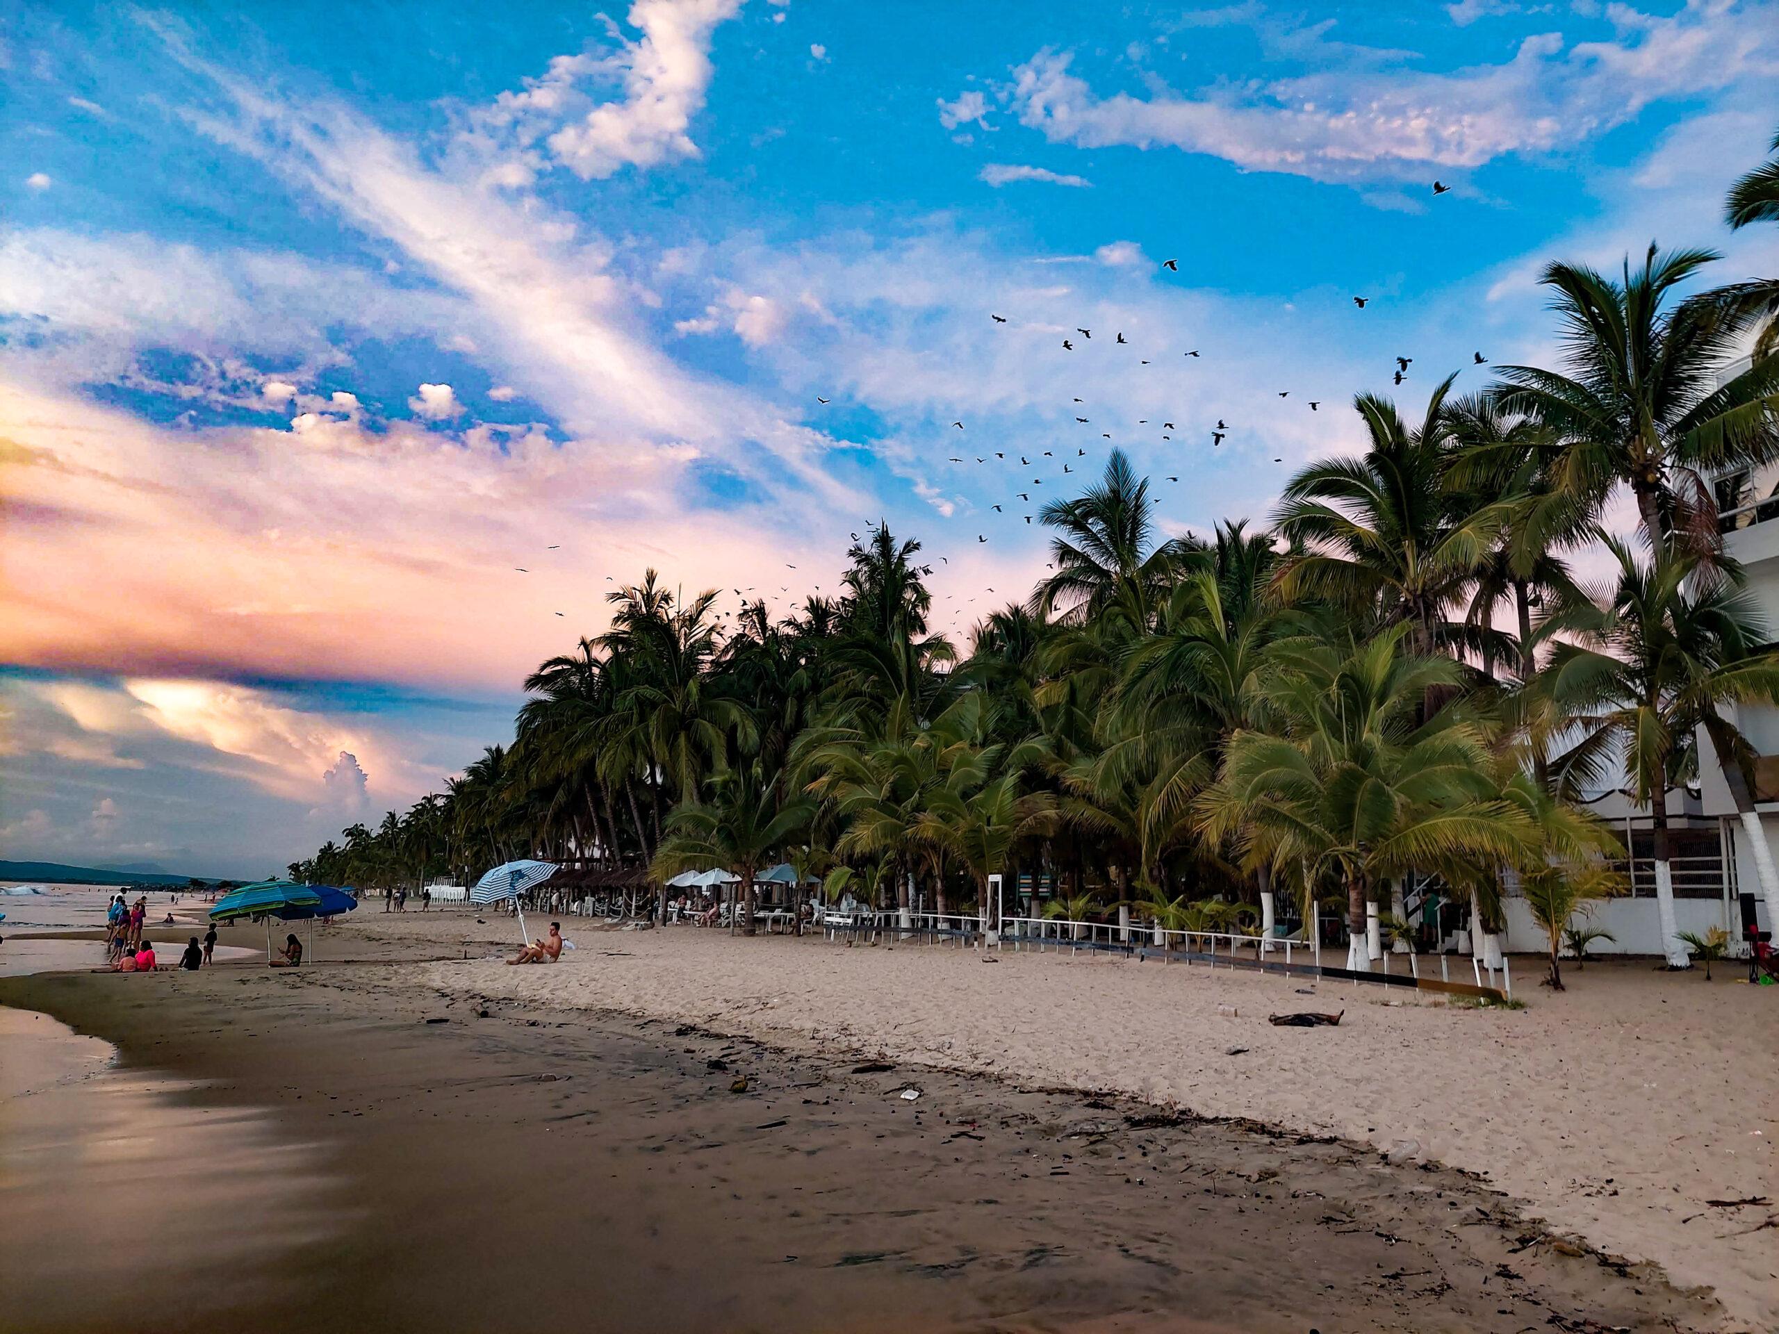
[[[196,1329],[279,1302],[338,1229],[320,1149],[94,1044],[0,1007],[0,1325]]]

